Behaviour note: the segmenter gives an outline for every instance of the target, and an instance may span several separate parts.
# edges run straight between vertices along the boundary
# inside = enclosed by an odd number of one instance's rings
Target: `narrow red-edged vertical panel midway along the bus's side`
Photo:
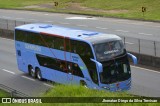
[[[72,53],[71,53],[71,44],[70,44],[70,39],[65,38],[65,68],[67,71],[67,82],[72,83],[73,80],[73,71],[72,71]]]

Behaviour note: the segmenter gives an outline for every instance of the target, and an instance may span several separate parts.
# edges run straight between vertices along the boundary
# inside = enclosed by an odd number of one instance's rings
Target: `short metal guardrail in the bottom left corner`
[[[0,89],[10,93],[11,97],[29,97],[28,95],[26,95],[20,91],[17,91],[13,88],[10,88],[8,86],[5,86],[3,84],[0,84]]]

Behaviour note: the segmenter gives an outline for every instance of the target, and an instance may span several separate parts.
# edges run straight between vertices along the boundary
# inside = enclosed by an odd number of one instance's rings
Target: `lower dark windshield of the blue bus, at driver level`
[[[123,55],[123,57],[115,60],[102,62],[102,64],[103,72],[100,73],[101,83],[111,84],[127,80],[131,77],[131,70],[127,55]]]

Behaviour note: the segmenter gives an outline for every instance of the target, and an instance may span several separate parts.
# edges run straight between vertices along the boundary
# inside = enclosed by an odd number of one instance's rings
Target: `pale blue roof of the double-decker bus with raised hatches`
[[[82,39],[82,40],[87,40],[91,43],[98,43],[111,40],[121,40],[119,36],[113,34],[79,30],[79,29],[56,26],[52,24],[40,24],[40,23],[25,24],[18,26],[15,29],[35,32],[35,33],[46,33],[50,35],[53,34],[75,39]]]

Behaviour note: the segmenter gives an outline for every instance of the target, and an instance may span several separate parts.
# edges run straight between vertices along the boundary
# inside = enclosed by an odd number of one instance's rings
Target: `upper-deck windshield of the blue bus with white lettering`
[[[98,61],[106,61],[123,54],[124,45],[121,40],[109,41],[94,44],[94,50]]]

